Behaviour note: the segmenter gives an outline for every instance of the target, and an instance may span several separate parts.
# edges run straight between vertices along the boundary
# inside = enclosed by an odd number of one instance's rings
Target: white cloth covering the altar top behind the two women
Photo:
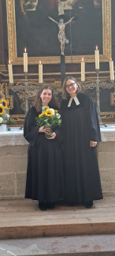
[[[11,127],[11,131],[0,132],[0,147],[28,145],[24,139],[24,130],[20,127]],[[102,142],[115,141],[115,124],[107,124],[107,127],[101,127]]]

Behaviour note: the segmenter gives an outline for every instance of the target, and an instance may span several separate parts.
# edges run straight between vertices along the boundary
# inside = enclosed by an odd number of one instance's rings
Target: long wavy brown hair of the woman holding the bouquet
[[[59,108],[59,102],[58,102],[58,99],[54,96],[53,88],[50,87],[50,85],[46,85],[46,86],[39,87],[39,91],[35,97],[34,106],[37,112],[42,111],[42,100],[40,98],[40,95],[42,94],[43,90],[46,90],[46,89],[50,89],[50,91],[52,92],[52,98],[49,102],[49,106],[53,108]]]

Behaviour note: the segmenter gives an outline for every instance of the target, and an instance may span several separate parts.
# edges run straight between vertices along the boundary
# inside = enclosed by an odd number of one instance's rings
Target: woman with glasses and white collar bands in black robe
[[[97,158],[101,140],[98,115],[89,95],[80,92],[72,76],[63,83],[61,102],[65,157],[65,200],[68,203],[93,206],[102,199]]]

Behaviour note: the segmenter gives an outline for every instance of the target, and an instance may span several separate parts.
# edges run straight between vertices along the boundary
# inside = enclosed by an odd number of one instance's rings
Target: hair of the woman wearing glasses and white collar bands
[[[68,92],[66,91],[66,82],[67,82],[68,80],[72,80],[72,81],[74,81],[75,83],[78,84],[78,87],[77,87],[77,89],[76,89],[77,95],[78,95],[78,93],[81,91],[80,83],[77,82],[76,78],[73,77],[73,76],[67,76],[67,77],[65,77],[65,80],[64,80],[64,82],[63,82],[63,87],[62,87],[62,98],[64,98],[64,99],[66,99],[66,98],[69,97],[69,94],[68,94]]]

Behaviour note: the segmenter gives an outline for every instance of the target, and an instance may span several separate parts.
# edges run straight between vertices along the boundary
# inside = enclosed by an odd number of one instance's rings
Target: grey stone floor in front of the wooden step
[[[115,235],[0,240],[0,256],[115,255]]]

